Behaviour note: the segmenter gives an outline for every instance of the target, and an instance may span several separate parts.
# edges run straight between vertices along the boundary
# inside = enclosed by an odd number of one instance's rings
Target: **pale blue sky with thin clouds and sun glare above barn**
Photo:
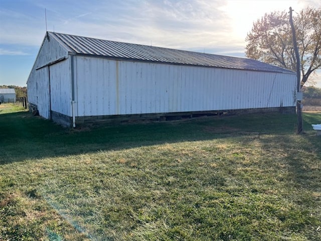
[[[292,7],[296,14],[307,6],[318,8],[321,1],[0,0],[0,85],[27,86],[46,29],[245,57],[245,38],[255,21],[265,13]],[[320,74],[313,76],[317,87],[321,87]]]

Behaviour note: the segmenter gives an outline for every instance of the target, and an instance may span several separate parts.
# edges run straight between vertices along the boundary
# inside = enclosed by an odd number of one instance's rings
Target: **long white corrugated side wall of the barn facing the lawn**
[[[292,73],[76,59],[77,116],[294,106]]]

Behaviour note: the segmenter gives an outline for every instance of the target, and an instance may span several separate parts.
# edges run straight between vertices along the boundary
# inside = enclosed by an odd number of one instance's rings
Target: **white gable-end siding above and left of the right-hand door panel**
[[[45,37],[27,81],[28,101],[36,104],[39,114],[45,118],[50,118],[49,67],[36,69],[68,56],[68,51],[55,39],[49,40]]]

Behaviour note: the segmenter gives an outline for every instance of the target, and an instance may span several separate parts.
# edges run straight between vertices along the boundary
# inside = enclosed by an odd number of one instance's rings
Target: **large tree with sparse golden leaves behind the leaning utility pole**
[[[293,14],[301,58],[301,87],[321,67],[321,8],[306,8]],[[286,11],[265,14],[245,39],[246,56],[286,69],[296,70],[289,15]]]

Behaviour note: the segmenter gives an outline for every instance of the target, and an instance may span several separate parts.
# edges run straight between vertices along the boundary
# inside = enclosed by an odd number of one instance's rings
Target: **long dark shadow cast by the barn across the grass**
[[[250,114],[174,122],[105,124],[72,130],[42,117],[31,116],[29,112],[16,112],[0,115],[0,165],[164,143],[293,133],[294,114]]]

